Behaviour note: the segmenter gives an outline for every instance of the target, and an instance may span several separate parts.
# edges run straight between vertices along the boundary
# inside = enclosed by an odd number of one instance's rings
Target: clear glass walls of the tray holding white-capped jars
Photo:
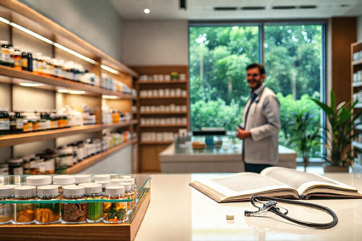
[[[122,174],[123,175],[123,174]],[[26,177],[31,175],[0,175],[0,185],[26,185]],[[57,176],[57,175],[46,175],[46,176]],[[91,182],[94,182],[93,174],[90,175]],[[126,224],[132,223],[135,218],[139,208],[142,206],[144,199],[151,191],[151,175],[146,174],[135,174],[129,175],[135,178],[135,184],[137,186],[137,196],[135,201],[135,206],[132,208],[130,212],[126,215],[128,216],[128,220],[125,222]],[[41,199],[32,199],[32,200],[6,200],[0,201],[0,204],[23,204],[23,203],[84,203],[84,202],[132,202],[134,199],[76,199],[76,200],[64,200],[64,199],[53,199],[53,200],[41,200]],[[102,223],[102,222],[101,222]],[[123,224],[125,224],[123,223]],[[57,225],[61,223],[56,223]],[[87,223],[84,223],[87,224]],[[6,224],[6,225],[19,225],[19,224]],[[38,225],[38,224],[20,224],[20,225]],[[45,224],[52,225],[52,224]],[[69,224],[61,224],[61,225],[69,225]],[[3,225],[0,225],[0,228]]]

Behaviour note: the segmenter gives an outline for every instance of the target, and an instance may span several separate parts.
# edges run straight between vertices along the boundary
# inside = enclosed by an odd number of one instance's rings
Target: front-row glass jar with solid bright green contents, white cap
[[[101,199],[102,185],[98,183],[82,183],[85,188],[85,197],[87,199]],[[103,219],[103,203],[88,202],[87,203],[87,222],[98,223]]]

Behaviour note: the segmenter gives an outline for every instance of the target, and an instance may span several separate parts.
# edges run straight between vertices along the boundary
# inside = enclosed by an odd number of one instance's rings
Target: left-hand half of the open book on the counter
[[[296,190],[290,186],[251,172],[237,173],[226,177],[195,180],[190,186],[193,186],[195,189],[218,202],[244,201],[248,200],[254,194],[298,198]]]

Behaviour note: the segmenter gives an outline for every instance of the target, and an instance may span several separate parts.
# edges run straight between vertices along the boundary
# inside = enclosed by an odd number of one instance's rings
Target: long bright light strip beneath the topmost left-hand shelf
[[[34,36],[35,38],[40,39],[40,40],[42,40],[42,41],[44,41],[46,43],[52,44],[55,47],[60,48],[61,50],[66,51],[66,52],[68,52],[68,53],[70,53],[70,54],[72,54],[72,55],[74,55],[74,56],[76,56],[76,57],[78,57],[80,59],[83,59],[83,60],[85,60],[85,61],[87,61],[87,62],[89,62],[91,64],[97,64],[96,61],[94,61],[94,60],[92,60],[92,59],[90,59],[90,58],[88,58],[88,57],[86,57],[84,55],[81,55],[80,53],[77,53],[77,52],[75,52],[75,51],[73,51],[73,50],[71,50],[71,49],[69,49],[67,47],[64,47],[63,45],[61,45],[59,43],[55,43],[55,42],[51,41],[50,39],[47,39],[47,38],[43,37],[42,35],[34,33],[33,31],[31,31],[29,29],[26,29],[25,27],[22,27],[22,26],[20,26],[20,25],[18,25],[16,23],[10,22],[9,20],[7,20],[7,19],[5,19],[3,17],[0,17],[0,21],[4,22],[4,23],[6,23],[6,24],[8,24],[10,26],[13,26],[13,27],[15,27],[15,28],[27,33],[27,34],[30,34],[31,36]],[[112,68],[110,68],[110,67],[108,67],[106,65],[101,65],[101,68],[104,69],[104,70],[107,70],[107,71],[109,71],[111,73],[119,74],[119,72],[117,70],[114,70],[114,69],[112,69]]]

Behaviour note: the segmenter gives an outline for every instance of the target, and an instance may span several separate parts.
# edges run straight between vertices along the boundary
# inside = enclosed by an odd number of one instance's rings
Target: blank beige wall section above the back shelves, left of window
[[[188,65],[188,21],[123,21],[123,63]]]

